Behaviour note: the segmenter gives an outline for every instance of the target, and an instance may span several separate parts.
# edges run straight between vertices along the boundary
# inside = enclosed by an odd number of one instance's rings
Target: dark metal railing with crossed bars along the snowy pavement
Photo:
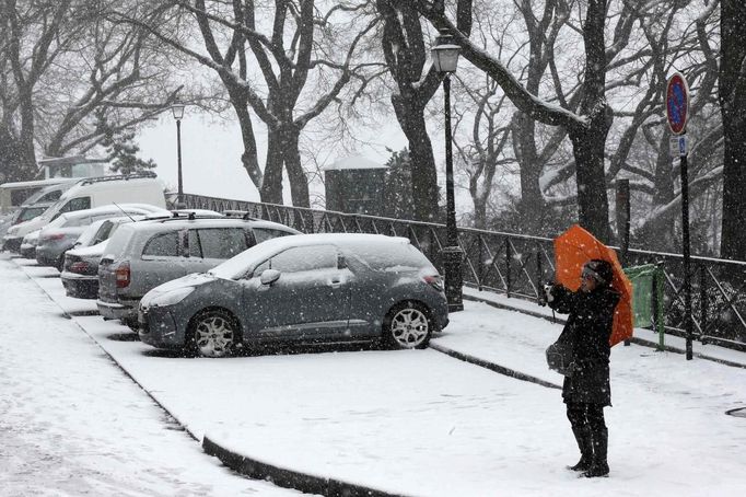
[[[378,233],[408,238],[443,269],[445,224],[351,215],[276,204],[184,195],[189,208],[245,210],[304,233]],[[464,284],[479,290],[536,301],[541,285],[553,279],[551,239],[458,228],[464,251]],[[630,266],[661,264],[665,273],[665,330],[684,336],[683,256],[630,250]],[[746,263],[691,257],[692,323],[696,339],[746,351]]]

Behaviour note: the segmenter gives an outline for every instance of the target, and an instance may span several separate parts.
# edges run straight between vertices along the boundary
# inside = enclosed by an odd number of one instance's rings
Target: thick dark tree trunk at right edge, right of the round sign
[[[746,4],[721,2],[720,107],[725,138],[721,257],[746,261]]]

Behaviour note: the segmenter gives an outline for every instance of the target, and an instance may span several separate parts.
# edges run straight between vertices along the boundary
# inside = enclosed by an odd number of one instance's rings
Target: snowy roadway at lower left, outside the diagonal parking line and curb
[[[300,495],[206,455],[7,255],[0,336],[1,496]]]

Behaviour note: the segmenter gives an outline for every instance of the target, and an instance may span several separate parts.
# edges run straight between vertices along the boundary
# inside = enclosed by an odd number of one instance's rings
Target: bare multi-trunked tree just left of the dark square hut
[[[163,32],[158,23],[123,19],[149,28],[218,74],[241,126],[244,167],[261,199],[282,203],[284,169],[293,204],[307,207],[308,180],[301,164],[300,135],[351,80],[366,83],[368,65],[357,58],[357,49],[377,19],[370,15],[366,1],[337,2],[324,12],[314,0],[266,3],[174,1],[175,15],[187,13],[195,20],[206,53]],[[264,171],[249,109],[267,127]]]

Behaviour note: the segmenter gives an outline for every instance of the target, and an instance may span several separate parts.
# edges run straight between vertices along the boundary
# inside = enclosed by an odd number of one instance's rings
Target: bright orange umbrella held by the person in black
[[[614,314],[614,328],[609,338],[609,344],[614,346],[632,337],[632,284],[625,275],[617,253],[578,224],[573,224],[555,239],[555,279],[566,288],[578,291],[583,265],[592,258],[611,263],[614,269],[611,287],[621,296]]]

